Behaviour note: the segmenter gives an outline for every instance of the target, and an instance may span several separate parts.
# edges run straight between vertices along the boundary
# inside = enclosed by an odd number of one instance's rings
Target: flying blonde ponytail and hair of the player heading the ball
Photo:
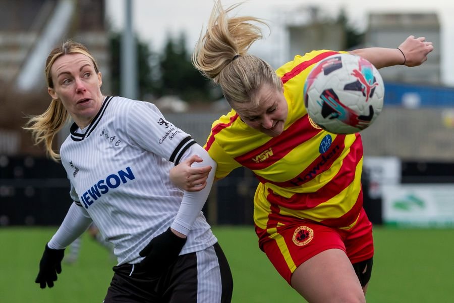
[[[268,63],[247,54],[252,43],[263,37],[260,27],[253,23],[268,25],[251,16],[228,17],[240,5],[223,9],[220,0],[216,1],[206,33],[200,36],[192,56],[194,67],[220,85],[231,106],[235,102],[257,103],[255,95],[264,84],[282,87]]]

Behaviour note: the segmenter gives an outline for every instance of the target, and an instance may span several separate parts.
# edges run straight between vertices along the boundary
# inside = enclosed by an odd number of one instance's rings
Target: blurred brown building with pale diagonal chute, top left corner
[[[33,91],[45,85],[44,62],[50,49],[72,39],[88,46],[108,72],[104,1],[2,0],[0,83]],[[107,81],[108,82],[108,81]]]

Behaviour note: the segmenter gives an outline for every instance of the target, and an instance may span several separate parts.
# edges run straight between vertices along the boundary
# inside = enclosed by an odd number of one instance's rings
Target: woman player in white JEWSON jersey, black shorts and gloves
[[[61,160],[74,203],[45,245],[35,282],[53,286],[65,248],[93,222],[118,259],[105,303],[230,302],[230,267],[201,212],[216,166],[207,152],[153,104],[104,96],[96,61],[80,43],[54,48],[45,75],[50,106],[26,129]],[[69,118],[59,155],[52,141]],[[180,162],[208,165],[200,169],[208,176],[193,180],[200,191],[170,181]]]

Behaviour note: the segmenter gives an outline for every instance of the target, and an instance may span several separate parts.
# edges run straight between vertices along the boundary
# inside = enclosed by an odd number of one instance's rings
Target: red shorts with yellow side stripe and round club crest
[[[328,227],[310,221],[277,227],[274,234],[262,233],[260,248],[279,274],[290,284],[292,273],[306,260],[320,252],[338,248],[345,251],[352,264],[374,255],[372,223],[364,209],[350,230]]]

